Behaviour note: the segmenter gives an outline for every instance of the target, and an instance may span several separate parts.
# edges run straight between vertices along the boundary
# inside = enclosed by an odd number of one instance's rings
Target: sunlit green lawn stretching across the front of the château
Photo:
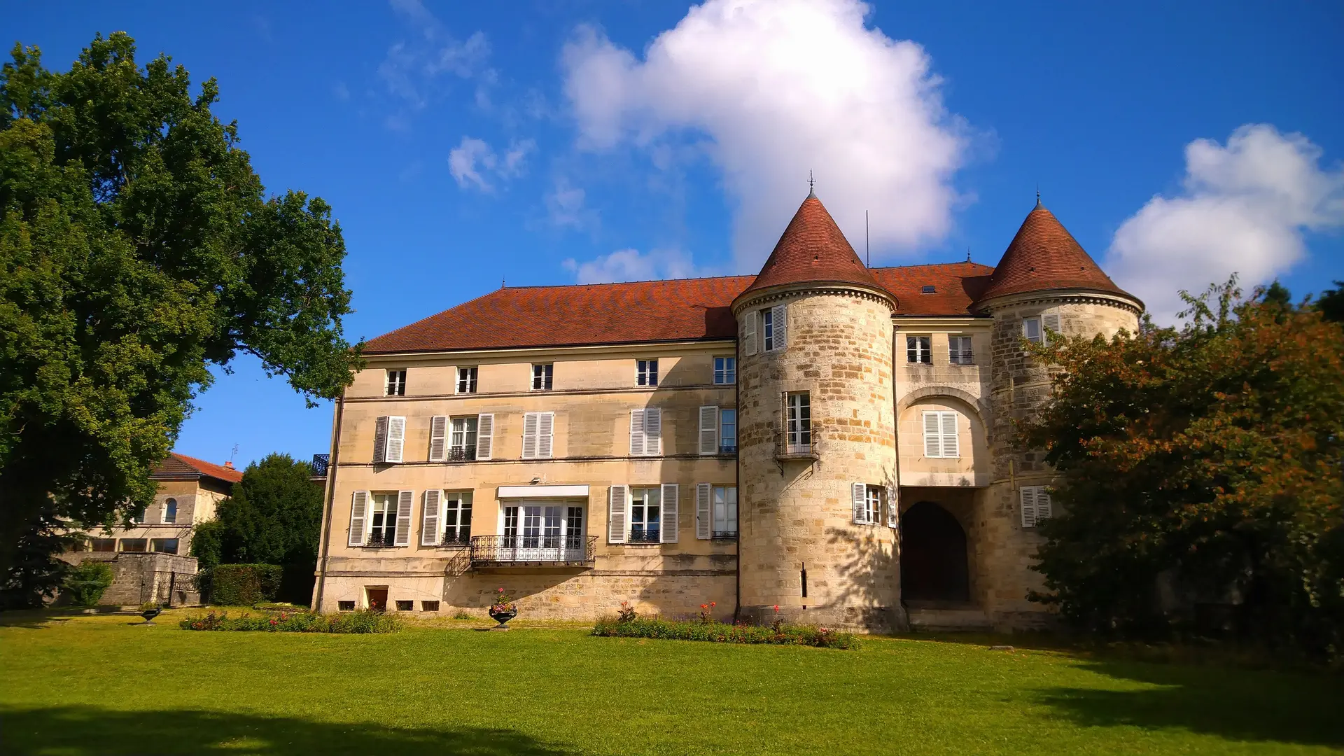
[[[1337,753],[1328,675],[982,643],[188,632],[181,611],[0,619],[0,752]]]

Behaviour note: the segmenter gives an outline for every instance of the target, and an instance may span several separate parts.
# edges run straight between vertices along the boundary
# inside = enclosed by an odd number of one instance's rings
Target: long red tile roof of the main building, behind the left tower
[[[876,268],[898,315],[968,315],[992,269],[974,262]],[[753,276],[515,287],[371,339],[366,354],[732,339],[731,304]],[[921,295],[933,284],[935,295]]]

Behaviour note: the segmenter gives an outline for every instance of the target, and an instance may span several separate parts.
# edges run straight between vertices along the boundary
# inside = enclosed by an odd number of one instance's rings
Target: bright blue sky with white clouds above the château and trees
[[[993,264],[1039,186],[1164,317],[1231,270],[1344,278],[1339,7],[1083,5],[27,3],[0,38],[66,69],[126,31],[218,78],[269,190],[335,207],[352,339],[501,280],[754,272],[809,169],[875,264]],[[254,362],[196,404],[184,453],[329,444]]]

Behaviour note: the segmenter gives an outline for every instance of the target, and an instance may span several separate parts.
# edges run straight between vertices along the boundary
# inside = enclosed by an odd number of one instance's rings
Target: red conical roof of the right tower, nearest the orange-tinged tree
[[[1036,199],[1036,207],[1021,222],[976,301],[1051,289],[1087,289],[1138,301],[1117,287],[1055,214]]]

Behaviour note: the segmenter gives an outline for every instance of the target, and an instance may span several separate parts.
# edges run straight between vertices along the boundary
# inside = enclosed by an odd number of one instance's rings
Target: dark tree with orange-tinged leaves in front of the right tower
[[[1126,636],[1210,624],[1344,651],[1344,328],[1235,280],[1181,330],[1051,336],[1050,405],[1021,428],[1063,474],[1038,568],[1078,627]],[[1214,301],[1211,301],[1211,297]],[[1207,628],[1206,628],[1207,630]]]

